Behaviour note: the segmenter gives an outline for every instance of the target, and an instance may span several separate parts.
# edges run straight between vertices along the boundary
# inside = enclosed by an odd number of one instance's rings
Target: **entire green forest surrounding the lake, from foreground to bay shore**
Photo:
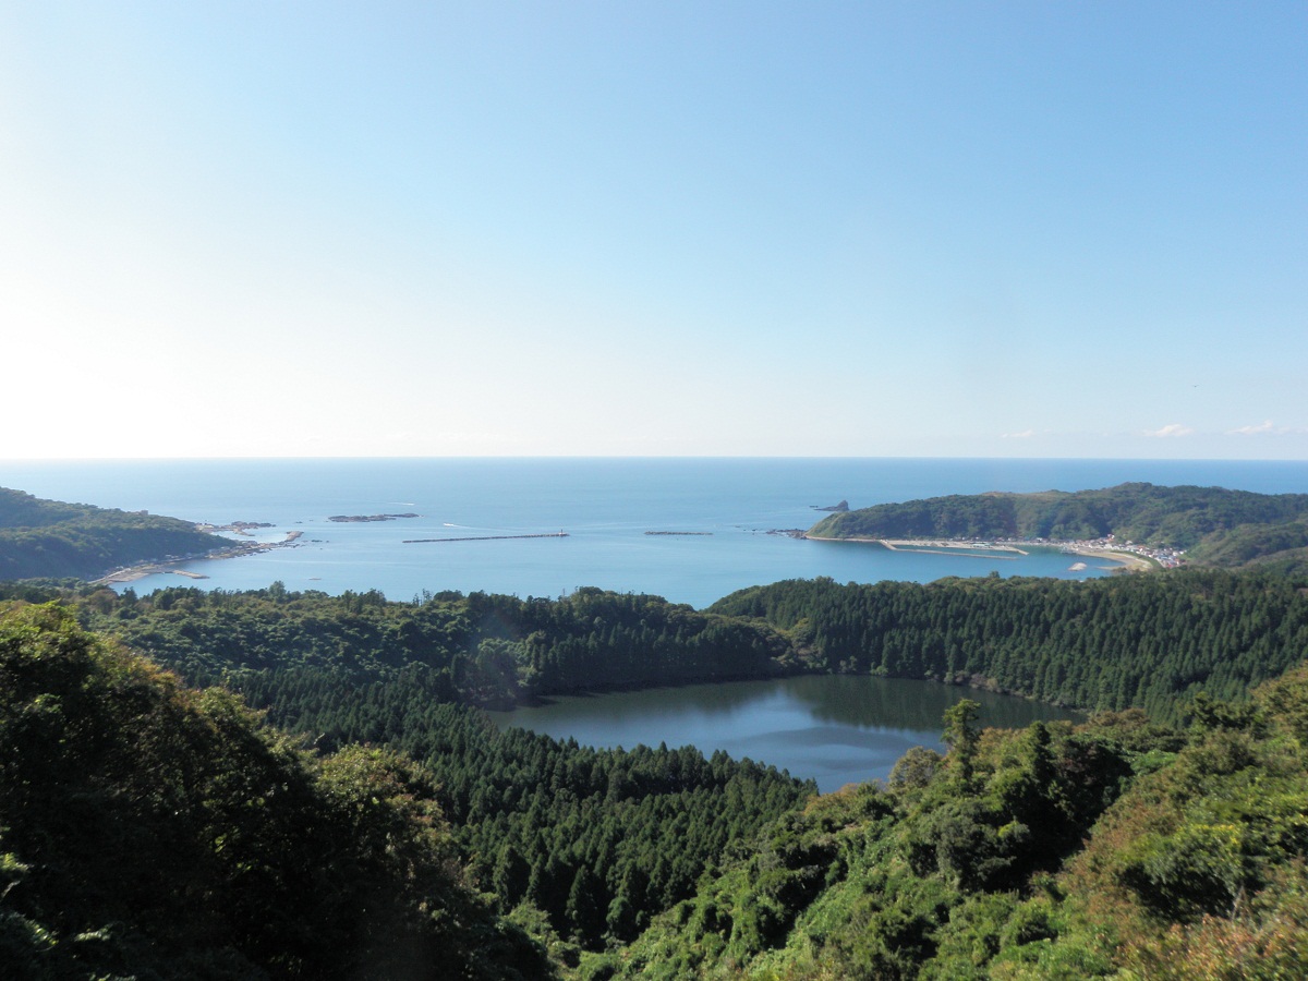
[[[0,607],[0,942],[26,976],[450,977],[432,944],[505,978],[1308,967],[1294,577],[794,581],[708,611],[29,582]],[[663,671],[896,674],[1093,712],[995,731],[964,701],[946,755],[818,795],[477,709]]]

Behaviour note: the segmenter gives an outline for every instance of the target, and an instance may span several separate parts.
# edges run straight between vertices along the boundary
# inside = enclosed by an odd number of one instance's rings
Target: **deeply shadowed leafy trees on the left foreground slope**
[[[0,616],[7,977],[547,977],[468,888],[422,768],[292,748],[232,695]]]

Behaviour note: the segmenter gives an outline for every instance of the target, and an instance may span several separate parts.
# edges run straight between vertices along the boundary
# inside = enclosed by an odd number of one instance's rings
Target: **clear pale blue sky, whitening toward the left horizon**
[[[1308,459],[1308,4],[0,0],[0,458]]]

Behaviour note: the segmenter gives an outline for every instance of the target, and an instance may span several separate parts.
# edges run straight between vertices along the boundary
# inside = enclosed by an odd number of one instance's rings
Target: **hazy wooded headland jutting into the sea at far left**
[[[191,522],[0,488],[0,579],[76,577],[220,547]],[[230,544],[230,543],[228,543]]]

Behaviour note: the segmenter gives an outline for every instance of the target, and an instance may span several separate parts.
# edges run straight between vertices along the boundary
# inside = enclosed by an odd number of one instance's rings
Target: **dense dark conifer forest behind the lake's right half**
[[[709,612],[781,629],[828,671],[929,678],[1175,721],[1198,692],[1243,698],[1308,655],[1304,579],[1177,569],[1075,582],[998,577],[756,586]]]

